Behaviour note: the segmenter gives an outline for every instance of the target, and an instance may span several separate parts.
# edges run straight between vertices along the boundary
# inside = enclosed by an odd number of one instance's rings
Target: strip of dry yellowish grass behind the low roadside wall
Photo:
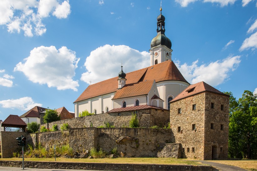
[[[0,160],[22,161],[22,158],[2,158]],[[24,161],[55,162],[55,158],[24,158]],[[203,165],[197,161],[174,158],[56,158],[56,162]]]

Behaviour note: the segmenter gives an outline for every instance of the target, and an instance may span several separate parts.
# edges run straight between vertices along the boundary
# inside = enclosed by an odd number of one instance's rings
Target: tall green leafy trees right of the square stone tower
[[[238,101],[230,95],[229,157],[257,158],[257,94],[246,90]]]

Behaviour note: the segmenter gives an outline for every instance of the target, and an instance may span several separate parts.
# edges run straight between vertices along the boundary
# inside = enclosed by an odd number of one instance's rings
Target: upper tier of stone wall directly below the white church
[[[68,123],[70,128],[86,128],[86,127],[99,127],[108,122],[115,127],[128,127],[132,113],[135,111],[124,111],[114,113],[102,113],[96,115],[90,115],[85,117],[76,117],[72,119],[60,120],[48,123],[49,129],[53,125],[57,125],[60,130],[60,125]],[[139,127],[149,128],[157,125],[158,127],[164,127],[170,122],[170,112],[162,109],[143,109],[136,111],[137,118],[139,120]],[[42,124],[47,128],[47,124]]]

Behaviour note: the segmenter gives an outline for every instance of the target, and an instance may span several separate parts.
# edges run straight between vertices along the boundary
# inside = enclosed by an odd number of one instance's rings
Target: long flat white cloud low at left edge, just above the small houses
[[[30,110],[34,106],[42,106],[40,103],[35,103],[31,97],[22,97],[19,99],[2,100],[0,104],[4,108],[19,109],[23,111]]]

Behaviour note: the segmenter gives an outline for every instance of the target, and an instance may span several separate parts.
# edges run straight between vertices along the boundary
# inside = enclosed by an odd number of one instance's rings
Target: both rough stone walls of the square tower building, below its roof
[[[228,105],[228,96],[210,92],[170,103],[170,126],[176,143],[183,146],[183,158],[209,160],[228,156]]]

